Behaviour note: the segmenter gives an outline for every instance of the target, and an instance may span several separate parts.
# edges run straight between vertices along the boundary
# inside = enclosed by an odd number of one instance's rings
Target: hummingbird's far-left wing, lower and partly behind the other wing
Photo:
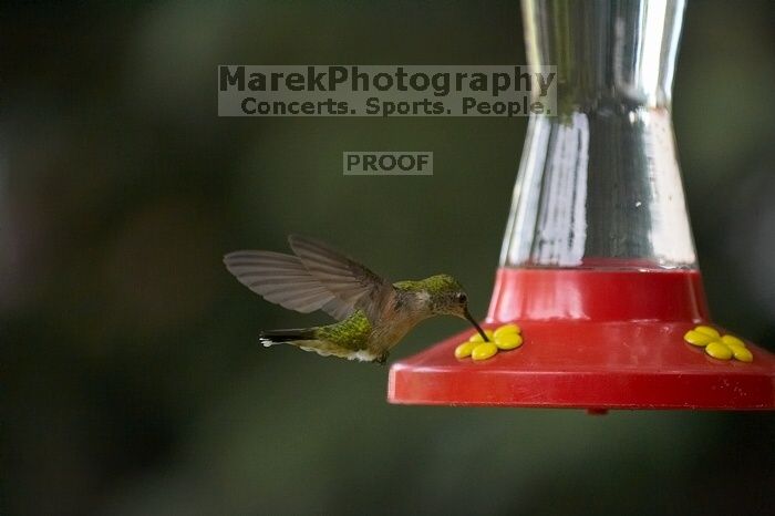
[[[354,311],[352,303],[324,287],[296,256],[245,250],[226,255],[224,264],[240,283],[290,310],[323,310],[339,321]]]

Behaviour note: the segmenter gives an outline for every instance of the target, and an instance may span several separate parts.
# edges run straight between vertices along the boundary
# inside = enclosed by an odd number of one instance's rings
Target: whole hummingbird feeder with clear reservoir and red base
[[[520,345],[472,360],[456,353],[471,331],[452,337],[393,364],[391,403],[775,409],[775,355],[705,302],[670,114],[683,11],[523,0],[559,114],[530,116],[483,323],[516,323]]]

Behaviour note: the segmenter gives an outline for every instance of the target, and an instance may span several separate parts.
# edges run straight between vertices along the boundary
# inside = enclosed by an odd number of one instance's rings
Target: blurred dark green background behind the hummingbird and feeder
[[[774,22],[691,2],[674,102],[710,305],[771,350]],[[0,513],[775,512],[772,413],[391,406],[386,368],[258,347],[323,319],[220,259],[294,231],[484,316],[526,120],[218,118],[216,66],[524,63],[518,3],[3,3],[0,41]],[[344,177],[353,149],[435,175]]]

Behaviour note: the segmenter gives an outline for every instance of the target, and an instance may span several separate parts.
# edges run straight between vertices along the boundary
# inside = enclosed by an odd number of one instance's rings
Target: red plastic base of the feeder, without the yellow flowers
[[[466,330],[393,364],[388,399],[592,413],[775,409],[775,355],[746,342],[753,362],[722,361],[684,342],[707,321],[696,271],[502,269],[483,326],[517,322],[524,344],[458,360]]]

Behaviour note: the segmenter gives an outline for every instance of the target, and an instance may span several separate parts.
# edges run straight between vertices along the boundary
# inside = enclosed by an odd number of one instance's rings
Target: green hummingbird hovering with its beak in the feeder
[[[224,257],[237,280],[269,302],[337,322],[260,333],[265,347],[292,344],[323,357],[384,364],[390,351],[418,322],[456,316],[487,336],[468,312],[468,296],[450,275],[391,283],[320,240],[291,235],[293,255],[241,250]]]

